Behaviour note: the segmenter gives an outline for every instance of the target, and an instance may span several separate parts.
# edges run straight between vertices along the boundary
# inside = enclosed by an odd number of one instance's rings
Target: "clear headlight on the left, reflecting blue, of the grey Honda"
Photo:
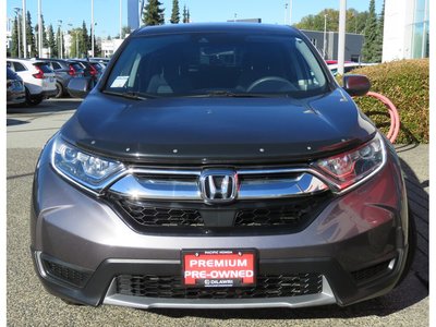
[[[124,168],[119,161],[85,153],[60,136],[53,143],[51,165],[61,175],[96,192]]]

